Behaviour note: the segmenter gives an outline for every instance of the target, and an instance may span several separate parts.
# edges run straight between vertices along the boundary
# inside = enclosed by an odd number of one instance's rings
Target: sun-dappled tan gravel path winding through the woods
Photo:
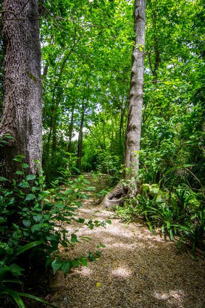
[[[79,217],[105,221],[113,216],[93,202],[90,196],[79,209]],[[100,242],[106,246],[97,261],[67,274],[69,308],[205,306],[204,260],[196,262],[187,254],[177,254],[175,243],[153,236],[146,226],[111,220],[106,228],[80,228],[77,234],[92,241],[64,252],[73,258],[94,252]],[[79,224],[69,226],[70,230],[75,227]]]

